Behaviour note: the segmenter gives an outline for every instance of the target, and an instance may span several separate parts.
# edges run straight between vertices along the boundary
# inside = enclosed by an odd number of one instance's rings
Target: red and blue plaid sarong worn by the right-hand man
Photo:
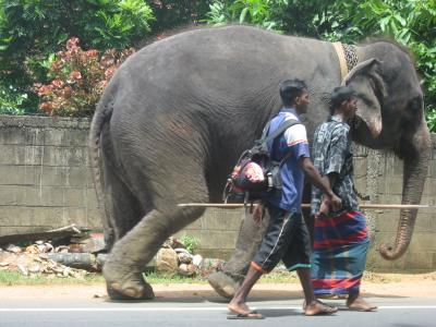
[[[311,278],[315,294],[359,292],[370,244],[362,213],[315,219]]]

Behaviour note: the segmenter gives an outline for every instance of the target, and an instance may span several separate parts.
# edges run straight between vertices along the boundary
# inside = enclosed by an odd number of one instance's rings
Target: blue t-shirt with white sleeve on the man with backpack
[[[271,134],[288,119],[300,121],[294,109],[283,108],[272,119],[268,134]],[[311,157],[305,126],[303,124],[290,126],[282,135],[268,143],[268,149],[274,160],[281,161],[286,156],[289,155],[289,157],[280,170],[282,191],[278,191],[265,199],[284,210],[300,213],[304,187],[304,171],[301,168],[300,158]]]

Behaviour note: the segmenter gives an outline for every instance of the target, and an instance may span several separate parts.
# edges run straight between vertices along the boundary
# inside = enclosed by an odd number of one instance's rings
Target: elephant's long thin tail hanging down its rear
[[[96,111],[93,117],[89,130],[89,166],[93,174],[94,186],[96,190],[97,202],[100,207],[100,214],[102,217],[102,225],[105,233],[112,234],[112,227],[109,223],[109,217],[106,217],[107,211],[105,207],[105,199],[102,193],[102,181],[100,171],[100,135],[106,123],[110,121],[113,110],[113,97],[107,96],[111,94],[106,93],[97,105]],[[106,235],[109,237],[109,235]]]

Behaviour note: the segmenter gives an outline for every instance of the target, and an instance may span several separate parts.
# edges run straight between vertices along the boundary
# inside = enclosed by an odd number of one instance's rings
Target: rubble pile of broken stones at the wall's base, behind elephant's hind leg
[[[35,241],[36,238],[40,240]],[[5,235],[0,237],[0,270],[19,271],[29,277],[44,274],[83,278],[88,271],[101,270],[107,257],[105,251],[101,233],[88,233],[75,226],[48,232]],[[206,277],[220,270],[223,263],[194,255],[181,241],[170,238],[147,268],[161,275]]]

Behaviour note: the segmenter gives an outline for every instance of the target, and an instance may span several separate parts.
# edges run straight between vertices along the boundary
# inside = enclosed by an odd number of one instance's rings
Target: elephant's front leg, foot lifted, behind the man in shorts
[[[241,286],[249,270],[250,263],[262,243],[269,222],[268,211],[265,211],[262,226],[257,226],[250,213],[244,213],[237,247],[221,271],[210,274],[208,282],[221,296],[231,299]]]

